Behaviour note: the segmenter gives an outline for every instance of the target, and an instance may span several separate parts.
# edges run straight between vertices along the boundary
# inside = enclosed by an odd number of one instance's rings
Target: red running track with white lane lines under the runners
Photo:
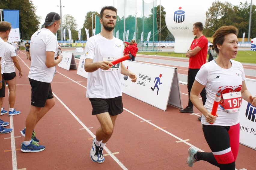
[[[23,153],[20,151],[31,100],[28,81],[30,61],[24,51],[18,55],[23,78],[17,78],[15,108],[21,114],[8,117],[13,131],[0,135],[0,169],[218,169],[200,161],[188,167],[187,149],[194,145],[201,151],[210,149],[204,139],[201,123],[195,114],[180,113],[178,108],[168,106],[159,110],[142,101],[123,94],[124,111],[117,117],[114,133],[103,152],[105,162],[94,163],[90,159],[92,139],[99,128],[96,116],[91,115],[91,104],[85,98],[87,79],[76,74],[77,70],[57,68],[52,89],[55,106],[36,125],[36,136],[44,151]],[[78,60],[77,60],[78,63]],[[183,68],[184,69],[184,68]],[[187,86],[180,85],[183,106],[186,106]],[[8,89],[8,88],[6,88]],[[3,107],[8,110],[8,90]],[[106,155],[108,154],[108,155]],[[236,169],[255,168],[255,151],[240,145]]]

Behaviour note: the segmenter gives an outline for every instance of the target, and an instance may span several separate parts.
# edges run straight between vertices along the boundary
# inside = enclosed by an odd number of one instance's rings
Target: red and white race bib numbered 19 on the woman
[[[240,111],[242,104],[241,92],[225,93],[222,94],[224,100],[224,110],[227,113],[236,113]]]

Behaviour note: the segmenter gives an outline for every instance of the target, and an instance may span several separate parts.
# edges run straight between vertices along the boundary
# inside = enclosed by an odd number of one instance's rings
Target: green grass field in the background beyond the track
[[[138,54],[182,57],[182,54],[177,54],[177,53],[174,53],[174,52],[161,52],[161,51],[138,52]],[[183,57],[186,57],[185,54],[183,54]],[[208,55],[207,55],[207,60],[208,60]],[[237,54],[237,56],[234,60],[239,61],[241,63],[254,63],[254,64],[256,64],[256,51],[238,51],[238,54]]]

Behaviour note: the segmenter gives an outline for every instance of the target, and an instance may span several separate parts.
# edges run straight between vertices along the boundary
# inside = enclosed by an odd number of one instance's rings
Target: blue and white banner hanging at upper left
[[[4,10],[4,21],[11,23],[11,32],[8,42],[20,41],[20,11],[19,10]]]

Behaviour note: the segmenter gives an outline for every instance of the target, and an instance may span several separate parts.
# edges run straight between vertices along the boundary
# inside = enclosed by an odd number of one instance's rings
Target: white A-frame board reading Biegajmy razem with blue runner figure
[[[123,64],[134,72],[138,78],[136,83],[133,83],[128,76],[123,75],[121,77],[123,93],[161,110],[166,110],[168,103],[182,108],[178,79],[175,80],[176,84],[173,84],[174,78],[178,78],[177,75],[175,76],[177,68],[127,60]],[[178,90],[177,93],[173,92],[175,96],[170,96],[172,90]],[[173,98],[176,103],[172,104],[169,97]]]

